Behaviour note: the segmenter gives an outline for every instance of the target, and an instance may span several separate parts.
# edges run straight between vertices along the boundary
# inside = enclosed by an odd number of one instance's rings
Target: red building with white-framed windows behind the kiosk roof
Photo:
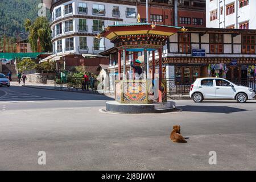
[[[146,22],[146,0],[138,0],[138,13]],[[148,22],[168,26],[205,27],[205,0],[148,0]]]

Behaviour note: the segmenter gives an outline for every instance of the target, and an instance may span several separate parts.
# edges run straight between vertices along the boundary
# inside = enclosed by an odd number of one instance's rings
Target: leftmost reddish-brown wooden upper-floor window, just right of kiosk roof
[[[179,33],[179,52],[191,53],[191,34]]]

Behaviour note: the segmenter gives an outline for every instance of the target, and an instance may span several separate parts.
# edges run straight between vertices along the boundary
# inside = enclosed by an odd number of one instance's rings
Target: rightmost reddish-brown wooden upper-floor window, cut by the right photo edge
[[[242,35],[242,53],[255,53],[255,35]]]

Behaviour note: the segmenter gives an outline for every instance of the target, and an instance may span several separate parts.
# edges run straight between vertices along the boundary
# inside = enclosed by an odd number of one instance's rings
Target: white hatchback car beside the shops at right
[[[255,92],[249,87],[233,84],[224,78],[197,78],[191,85],[189,96],[195,102],[204,99],[231,99],[244,103],[253,100]]]

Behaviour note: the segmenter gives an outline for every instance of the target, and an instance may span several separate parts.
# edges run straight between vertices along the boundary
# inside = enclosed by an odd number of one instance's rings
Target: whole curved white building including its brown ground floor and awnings
[[[96,73],[99,64],[108,64],[108,58],[98,53],[112,48],[108,39],[96,36],[113,24],[137,22],[134,1],[109,0],[42,0],[51,10],[53,55],[43,61],[54,60],[57,69],[86,67]]]

